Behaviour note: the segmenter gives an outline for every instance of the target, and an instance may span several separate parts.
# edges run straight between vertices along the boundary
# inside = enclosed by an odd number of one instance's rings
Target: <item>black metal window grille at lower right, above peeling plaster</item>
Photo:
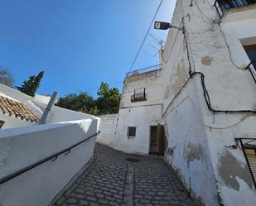
[[[255,180],[254,173],[253,173],[253,167],[252,167],[252,165],[250,165],[249,158],[245,152],[246,149],[256,151],[256,138],[235,138],[234,141],[240,143],[241,149],[244,153],[244,158],[249,167],[249,172],[250,172],[252,180],[254,182],[254,189],[256,189],[256,180]],[[255,156],[255,160],[256,160],[256,156]]]

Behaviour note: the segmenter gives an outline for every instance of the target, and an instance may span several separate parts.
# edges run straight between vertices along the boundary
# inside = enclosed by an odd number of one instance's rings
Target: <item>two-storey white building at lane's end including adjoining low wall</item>
[[[118,114],[101,116],[97,141],[129,153],[163,155],[162,69],[129,72]]]

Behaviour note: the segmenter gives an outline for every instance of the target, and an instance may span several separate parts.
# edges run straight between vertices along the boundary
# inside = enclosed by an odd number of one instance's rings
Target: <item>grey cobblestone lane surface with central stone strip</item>
[[[133,158],[138,162],[126,159]],[[94,158],[52,206],[194,206],[160,157],[138,156],[96,145]]]

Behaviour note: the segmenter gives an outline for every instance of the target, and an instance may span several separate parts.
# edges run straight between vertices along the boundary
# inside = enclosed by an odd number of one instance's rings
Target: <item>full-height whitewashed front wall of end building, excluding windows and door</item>
[[[146,89],[146,101],[131,102],[134,89]],[[127,77],[118,113],[118,127],[114,148],[129,153],[148,154],[150,126],[161,121],[162,113],[162,69]],[[136,127],[136,137],[128,138],[128,127]]]

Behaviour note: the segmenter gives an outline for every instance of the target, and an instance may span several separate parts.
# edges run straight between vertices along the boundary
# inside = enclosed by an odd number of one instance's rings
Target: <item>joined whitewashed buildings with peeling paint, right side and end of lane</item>
[[[157,132],[198,202],[253,206],[256,2],[177,0],[171,26],[161,69],[125,79],[110,146],[148,154]],[[145,100],[132,101],[144,88]]]

